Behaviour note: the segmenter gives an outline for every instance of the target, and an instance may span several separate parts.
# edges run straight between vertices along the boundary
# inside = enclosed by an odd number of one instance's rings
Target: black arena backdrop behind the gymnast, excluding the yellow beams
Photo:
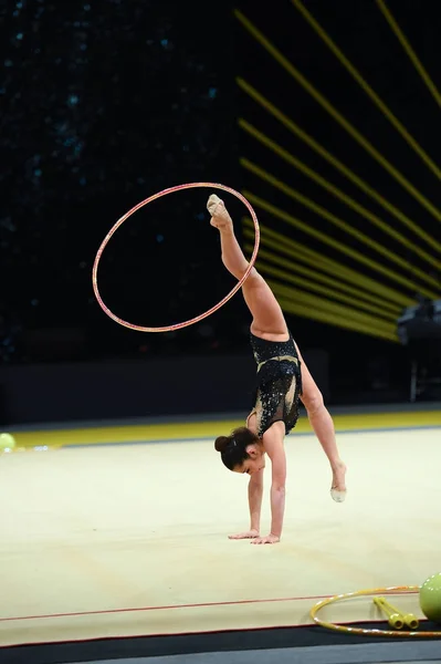
[[[376,2],[308,0],[305,4],[437,162],[439,106]],[[393,0],[388,7],[434,83],[441,86],[438,3]],[[206,376],[200,373],[199,390],[207,394],[207,384],[214,385],[212,394],[216,395],[219,381],[222,386],[211,411],[231,409],[232,398],[225,396],[225,382],[234,381],[231,376],[239,366],[234,365],[234,359],[242,362],[250,352],[250,317],[240,294],[200,324],[168,334],[143,334],[117,325],[102,312],[93,294],[92,266],[106,232],[129,208],[160,189],[188,181],[214,181],[250,190],[386,262],[358,240],[345,236],[243,169],[241,157],[259,164],[391,251],[399,252],[409,263],[430,272],[438,280],[438,291],[434,290],[439,294],[440,274],[433,267],[288,168],[239,128],[239,118],[246,120],[412,241],[421,243],[244,94],[237,84],[237,76],[245,79],[440,240],[440,221],[369,157],[256,43],[234,17],[234,8],[240,9],[414,187],[435,206],[439,204],[438,178],[407,146],[288,0],[274,0],[271,4],[244,0],[238,0],[237,4],[197,0],[7,1],[0,8],[0,411],[3,421],[35,421],[43,402],[42,418],[84,416],[85,411],[74,405],[72,394],[73,391],[76,396],[78,392],[87,393],[85,366],[94,367],[91,375],[96,376],[97,366],[122,365],[123,362],[137,367],[138,377],[133,381],[137,390],[138,381],[143,382],[145,376],[146,394],[133,407],[126,404],[118,411],[115,404],[108,406],[108,416],[165,412],[165,407],[151,405],[155,381],[149,372],[151,363],[160,357],[166,361],[167,377],[161,376],[164,390],[176,392],[179,385],[180,406],[174,400],[175,404],[168,404],[168,412],[200,411],[195,385],[191,402],[187,394],[188,403],[182,405],[182,398],[191,362],[197,359],[200,363],[201,357],[204,362],[225,357],[221,377],[219,364],[216,365],[218,373],[206,364]],[[118,229],[103,256],[98,280],[104,301],[117,315],[140,325],[172,324],[210,308],[232,288],[234,280],[220,261],[217,232],[208,224],[206,200],[210,193],[192,189],[174,194],[143,208]],[[225,201],[234,214],[242,239],[243,209],[229,196]],[[315,240],[267,212],[258,210],[258,215],[262,225],[318,249]],[[424,249],[437,256],[434,249],[428,246]],[[322,246],[321,250],[380,283],[392,286],[409,303],[414,299],[414,289],[390,283],[386,277],[329,248]],[[396,266],[388,267],[400,271]],[[407,398],[409,357],[399,343],[292,313],[286,313],[286,319],[305,355],[309,353],[315,363],[317,382],[332,403]],[[190,360],[179,373],[174,366],[185,357]],[[56,375],[50,374],[54,364],[59,366]],[[71,387],[70,372],[78,371],[80,365],[83,387],[81,383]],[[33,367],[35,372],[35,366],[40,367],[36,383],[30,382],[30,374],[24,371]],[[43,370],[48,366],[45,374]],[[159,367],[160,364],[155,371],[160,373]],[[22,373],[17,373],[19,370]],[[46,383],[52,381],[51,391],[48,385],[44,387],[44,375],[51,375],[46,377]],[[106,383],[111,390],[112,380],[105,377],[105,372],[101,380],[102,386],[98,380],[95,387],[102,390]],[[127,376],[125,381],[130,383]],[[15,387],[21,384],[18,392],[14,387],[17,394],[12,383]],[[241,381],[235,383],[242,387]],[[23,392],[24,385],[27,391]],[[72,402],[66,412],[60,409],[60,404],[48,403],[56,390]],[[117,391],[123,402],[125,387],[120,382]],[[11,403],[23,398],[40,398],[41,403],[33,405],[32,414],[20,415],[20,408],[12,408]],[[106,400],[102,401],[99,417],[106,415]],[[242,407],[243,403],[238,404],[238,409]],[[202,409],[207,412],[210,406],[206,404]],[[87,416],[93,416],[93,412],[87,412]]]

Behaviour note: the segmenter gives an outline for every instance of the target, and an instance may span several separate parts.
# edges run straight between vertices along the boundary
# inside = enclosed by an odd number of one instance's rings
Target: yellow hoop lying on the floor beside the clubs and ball
[[[400,592],[418,592],[419,590],[419,585],[392,585],[390,588],[371,588],[368,590],[357,590],[356,592],[347,592],[345,594],[334,595],[333,598],[322,600],[312,608],[309,615],[313,619],[313,621],[321,627],[325,627],[326,630],[333,630],[334,632],[339,632],[340,634],[358,634],[361,636],[406,636],[409,639],[441,639],[441,632],[402,632],[401,630],[366,630],[363,627],[347,627],[346,625],[337,625],[335,623],[329,623],[317,618],[318,611],[321,611],[324,606],[335,604],[336,602],[340,602],[343,600],[349,600],[350,598],[358,598],[361,595],[370,594],[398,594]]]

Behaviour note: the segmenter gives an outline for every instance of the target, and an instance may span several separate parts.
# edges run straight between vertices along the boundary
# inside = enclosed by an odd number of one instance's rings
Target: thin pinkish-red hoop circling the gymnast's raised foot
[[[115,313],[113,313],[108,309],[108,307],[106,307],[104,304],[103,299],[99,294],[98,284],[97,284],[97,272],[98,272],[99,260],[101,260],[104,249],[106,248],[109,239],[112,238],[114,232],[119,228],[119,226],[122,226],[124,224],[124,221],[126,221],[129,217],[132,217],[132,215],[134,215],[139,208],[148,205],[149,203],[153,203],[157,198],[167,196],[168,194],[174,194],[175,191],[181,191],[183,189],[193,189],[193,188],[198,188],[198,187],[221,189],[222,191],[228,191],[229,194],[232,194],[233,196],[239,198],[239,200],[241,200],[243,203],[243,205],[248,208],[248,210],[253,219],[255,239],[254,239],[253,253],[250,259],[250,263],[245,270],[245,273],[243,274],[242,279],[240,281],[238,281],[238,283],[234,286],[234,288],[218,304],[216,304],[214,307],[212,307],[204,313],[201,313],[200,315],[197,315],[188,321],[183,321],[182,323],[175,323],[174,325],[164,325],[162,328],[147,328],[147,326],[143,326],[143,325],[134,325],[133,323],[128,323],[127,321],[124,321],[123,319],[118,318]],[[133,207],[128,212],[126,212],[123,217],[120,217],[120,219],[118,219],[118,221],[111,228],[111,230],[104,238],[104,240],[96,253],[93,270],[92,270],[92,283],[93,283],[95,298],[97,299],[99,307],[111,319],[116,321],[119,325],[129,328],[130,330],[137,330],[138,332],[171,332],[174,330],[181,330],[182,328],[187,328],[188,325],[198,323],[199,321],[203,320],[204,318],[211,315],[212,313],[218,311],[221,307],[223,307],[223,304],[225,304],[229,300],[231,300],[231,298],[238,292],[238,290],[240,288],[242,288],[243,283],[246,281],[251,270],[253,269],[255,259],[258,257],[259,245],[260,245],[260,228],[259,228],[258,216],[254,212],[254,209],[252,208],[252,206],[246,200],[246,198],[244,196],[242,196],[242,194],[239,194],[239,191],[235,191],[235,189],[231,189],[231,187],[225,187],[224,185],[219,185],[216,183],[188,183],[186,185],[178,185],[176,187],[170,187],[169,189],[162,189],[162,191],[158,191],[158,194],[154,194],[149,198],[141,200],[141,203],[138,203],[138,205]]]

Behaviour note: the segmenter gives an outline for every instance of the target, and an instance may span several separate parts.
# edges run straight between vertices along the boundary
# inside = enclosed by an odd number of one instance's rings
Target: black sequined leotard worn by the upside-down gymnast
[[[286,434],[298,419],[302,394],[301,361],[290,332],[287,341],[266,341],[251,333],[251,347],[258,364],[252,412],[258,417],[261,438],[274,422],[284,422]]]

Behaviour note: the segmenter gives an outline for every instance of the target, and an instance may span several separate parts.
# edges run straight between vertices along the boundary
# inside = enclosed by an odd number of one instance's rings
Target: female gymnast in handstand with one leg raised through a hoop
[[[207,208],[211,226],[220,232],[223,264],[240,280],[249,263],[234,236],[231,217],[216,195],[210,196]],[[250,530],[232,535],[230,539],[273,544],[281,540],[285,510],[286,457],[283,443],[297,422],[300,398],[329,460],[333,473],[330,495],[336,502],[343,502],[346,497],[346,466],[339,458],[333,419],[323,396],[286,326],[279,302],[255,268],[242,286],[242,293],[253,319],[250,338],[258,365],[255,401],[246,426],[234,429],[229,436],[219,436],[214,448],[229,470],[250,475]],[[272,523],[270,535],[261,537],[265,455],[272,464]]]

